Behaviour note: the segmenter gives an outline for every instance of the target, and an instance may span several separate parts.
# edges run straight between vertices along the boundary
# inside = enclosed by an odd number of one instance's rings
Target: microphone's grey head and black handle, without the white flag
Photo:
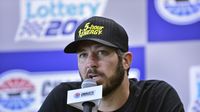
[[[94,79],[85,79],[82,84],[81,88],[93,87],[97,86],[97,83]],[[92,108],[95,106],[95,103],[92,101],[86,101],[82,103],[83,112],[92,112]]]

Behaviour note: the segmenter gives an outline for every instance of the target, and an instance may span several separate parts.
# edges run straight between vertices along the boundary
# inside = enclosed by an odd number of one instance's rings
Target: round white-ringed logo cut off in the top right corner
[[[200,0],[155,0],[158,14],[166,21],[188,25],[200,21]]]

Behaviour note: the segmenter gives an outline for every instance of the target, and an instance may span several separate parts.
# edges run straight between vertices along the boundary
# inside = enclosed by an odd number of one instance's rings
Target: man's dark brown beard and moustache
[[[102,77],[105,76],[104,73],[98,71],[96,68],[90,68],[89,72],[94,73],[94,74],[99,74]],[[123,68],[122,61],[119,60],[116,70],[113,73],[112,77],[106,79],[107,81],[103,84],[103,96],[107,96],[107,95],[111,94],[122,84],[122,82],[124,80],[124,73],[125,73],[125,70]],[[80,71],[79,71],[79,74],[80,74]],[[89,77],[87,77],[87,78],[89,78]],[[83,80],[83,77],[81,77],[81,79]],[[98,82],[97,82],[97,84],[101,85]]]

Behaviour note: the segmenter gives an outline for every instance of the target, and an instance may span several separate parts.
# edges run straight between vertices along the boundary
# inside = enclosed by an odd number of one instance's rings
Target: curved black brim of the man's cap
[[[114,45],[110,42],[98,39],[98,38],[87,38],[87,39],[77,40],[77,41],[71,42],[70,44],[68,44],[65,47],[64,52],[65,53],[76,53],[80,42],[84,42],[84,41],[93,41],[93,42],[97,42],[97,43],[100,43],[100,44],[103,44],[103,45],[106,45],[106,46],[109,46],[109,47],[118,48],[116,45]]]

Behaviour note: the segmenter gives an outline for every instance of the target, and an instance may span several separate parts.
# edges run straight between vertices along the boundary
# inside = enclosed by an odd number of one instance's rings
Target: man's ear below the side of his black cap
[[[129,69],[132,63],[133,55],[131,52],[126,52],[123,55],[123,67],[125,70]]]

